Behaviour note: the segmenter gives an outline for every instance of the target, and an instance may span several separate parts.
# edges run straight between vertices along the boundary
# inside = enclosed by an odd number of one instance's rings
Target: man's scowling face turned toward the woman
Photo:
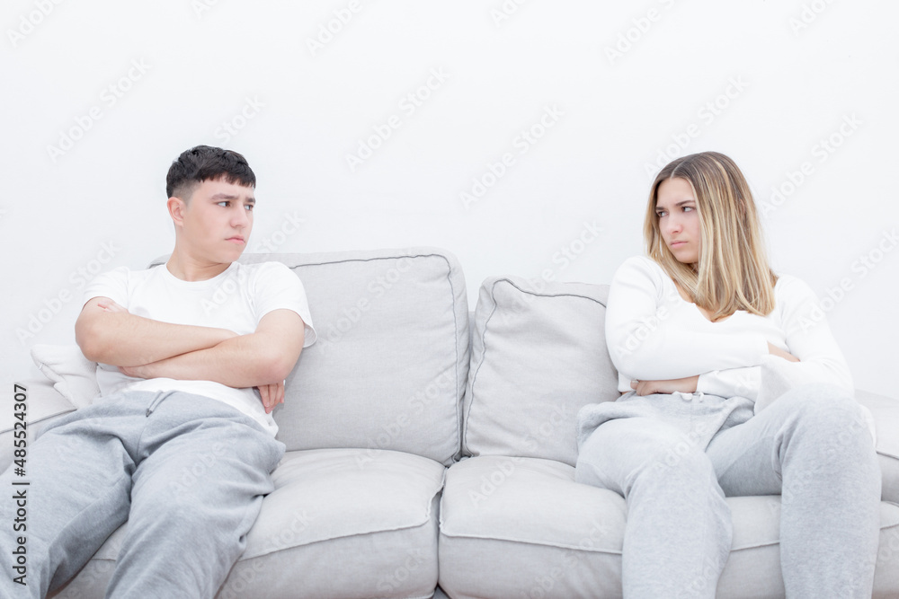
[[[182,210],[182,241],[201,260],[233,262],[253,230],[253,188],[203,181]]]

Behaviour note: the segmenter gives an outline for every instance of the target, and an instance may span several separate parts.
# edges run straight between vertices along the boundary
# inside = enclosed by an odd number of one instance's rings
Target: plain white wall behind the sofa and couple
[[[608,282],[642,251],[656,161],[724,152],[766,204],[775,267],[823,298],[848,288],[825,307],[857,386],[897,394],[895,3],[5,0],[0,13],[7,388],[38,375],[31,344],[74,342],[79,270],[171,250],[165,172],[205,143],[257,174],[251,251],[440,246],[472,307],[489,275]],[[544,115],[553,126],[530,144],[521,132]],[[352,170],[347,155],[385,127]],[[602,232],[581,245],[587,225]]]

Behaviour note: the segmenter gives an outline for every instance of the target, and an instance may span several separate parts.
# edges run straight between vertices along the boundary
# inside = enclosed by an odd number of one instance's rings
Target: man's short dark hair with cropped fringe
[[[177,196],[187,201],[193,188],[203,181],[224,179],[245,187],[256,187],[256,175],[244,156],[231,150],[197,145],[182,152],[165,177],[168,198]]]

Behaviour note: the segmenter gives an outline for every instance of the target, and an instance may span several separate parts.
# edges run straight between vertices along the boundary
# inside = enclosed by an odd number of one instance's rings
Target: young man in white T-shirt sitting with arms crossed
[[[0,596],[43,597],[127,520],[107,596],[213,597],[273,488],[284,445],[271,411],[316,339],[306,294],[279,262],[235,261],[255,204],[242,155],[199,145],[166,183],[172,257],[85,290],[76,341],[100,364],[102,399],[31,446],[27,584],[4,549]],[[14,534],[0,527],[0,546]]]

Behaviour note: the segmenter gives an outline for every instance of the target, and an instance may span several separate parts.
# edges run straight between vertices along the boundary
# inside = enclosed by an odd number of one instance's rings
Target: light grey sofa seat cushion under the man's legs
[[[285,454],[219,599],[431,597],[445,471],[438,462],[394,451]],[[60,597],[103,596],[127,526]]]

